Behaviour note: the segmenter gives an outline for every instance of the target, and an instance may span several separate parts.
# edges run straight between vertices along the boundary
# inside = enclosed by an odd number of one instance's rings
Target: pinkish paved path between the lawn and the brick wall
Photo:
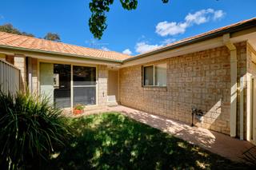
[[[174,135],[191,144],[196,144],[210,152],[214,152],[234,161],[242,161],[244,158],[243,153],[254,147],[253,144],[245,140],[238,140],[219,132],[210,131],[206,128],[191,127],[181,121],[155,116],[122,105],[111,106],[106,109],[90,110],[85,114],[102,112],[122,113],[136,121],[158,128],[163,132],[168,132],[170,135]],[[256,152],[254,154],[256,155]]]

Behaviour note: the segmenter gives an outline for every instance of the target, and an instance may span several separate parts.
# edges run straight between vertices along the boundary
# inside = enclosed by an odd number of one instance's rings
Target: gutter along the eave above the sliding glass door
[[[90,57],[90,56],[76,55],[76,54],[70,54],[70,53],[58,53],[58,52],[52,52],[52,51],[45,51],[45,50],[41,50],[41,49],[26,49],[23,47],[13,47],[13,46],[9,46],[9,45],[0,45],[0,48],[10,49],[10,50],[18,50],[18,51],[22,51],[22,52],[47,53],[47,54],[66,56],[66,57],[81,57],[84,59],[90,59],[90,60],[94,60],[94,61],[107,61],[107,62],[111,62],[111,63],[122,64],[121,60],[113,60],[113,59],[107,59],[107,58],[102,58],[102,57]]]

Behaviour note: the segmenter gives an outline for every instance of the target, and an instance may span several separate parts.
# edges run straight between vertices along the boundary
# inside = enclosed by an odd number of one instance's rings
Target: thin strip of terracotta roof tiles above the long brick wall
[[[131,57],[131,59],[135,59],[135,58],[140,57],[140,56],[142,56],[142,55],[146,55],[147,53],[152,53],[152,52],[154,52],[154,51],[158,51],[158,50],[160,51],[161,49],[166,49],[166,48],[168,48],[168,47],[172,47],[172,46],[175,46],[175,45],[179,45],[179,44],[182,44],[183,42],[190,42],[190,41],[192,41],[192,40],[195,40],[195,39],[198,39],[198,38],[202,38],[202,37],[205,37],[205,36],[210,35],[210,34],[215,34],[215,33],[221,32],[221,31],[223,31],[223,30],[232,29],[232,28],[234,28],[234,27],[236,27],[236,26],[241,26],[241,25],[246,24],[246,23],[248,23],[248,22],[254,22],[254,26],[256,26],[256,25],[255,25],[255,23],[256,23],[256,18],[250,18],[250,19],[244,20],[244,21],[242,21],[242,22],[237,22],[237,23],[231,24],[231,25],[229,25],[229,26],[223,26],[223,27],[221,27],[221,28],[218,28],[218,29],[215,29],[215,30],[210,30],[210,31],[208,31],[208,32],[206,32],[206,33],[203,33],[203,34],[198,34],[198,35],[195,35],[195,36],[190,37],[190,38],[184,38],[184,39],[179,40],[179,41],[177,41],[177,42],[172,42],[172,43],[170,43],[170,44],[168,44],[168,45],[164,45],[164,46],[162,46],[162,47],[158,47],[158,48],[156,48],[156,49],[147,51],[146,53],[138,54],[137,56]],[[253,24],[252,24],[252,25],[253,25]],[[130,58],[127,58],[127,59],[130,60]]]

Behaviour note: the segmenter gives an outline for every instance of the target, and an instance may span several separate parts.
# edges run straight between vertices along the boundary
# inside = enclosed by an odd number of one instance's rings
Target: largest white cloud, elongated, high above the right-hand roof
[[[211,20],[217,20],[224,16],[222,10],[198,10],[194,14],[187,14],[183,22],[159,22],[155,32],[162,37],[167,35],[184,34],[186,29],[194,24],[200,25]]]

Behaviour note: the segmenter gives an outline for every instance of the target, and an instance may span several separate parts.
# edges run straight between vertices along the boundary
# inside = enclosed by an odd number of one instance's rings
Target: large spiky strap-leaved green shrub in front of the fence
[[[0,168],[28,168],[49,159],[69,136],[60,109],[46,97],[0,92]]]

